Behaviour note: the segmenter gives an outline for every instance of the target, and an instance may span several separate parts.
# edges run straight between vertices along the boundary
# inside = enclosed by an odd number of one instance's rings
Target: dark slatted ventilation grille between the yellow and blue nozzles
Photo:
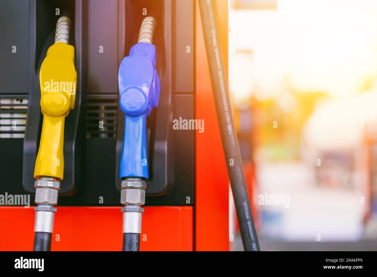
[[[118,95],[87,95],[86,137],[115,138]]]

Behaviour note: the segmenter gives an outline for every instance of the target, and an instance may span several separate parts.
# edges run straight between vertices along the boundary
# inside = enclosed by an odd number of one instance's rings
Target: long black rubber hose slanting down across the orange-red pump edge
[[[260,251],[239,151],[213,0],[199,0],[213,98],[245,251]],[[232,162],[231,162],[232,161]]]

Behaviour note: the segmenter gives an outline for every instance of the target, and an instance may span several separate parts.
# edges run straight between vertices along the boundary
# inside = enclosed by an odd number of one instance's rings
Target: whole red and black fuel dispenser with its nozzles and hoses
[[[0,10],[0,194],[36,204],[35,216],[0,206],[0,250],[31,250],[34,219],[36,251],[119,251],[122,231],[124,251],[228,250],[224,156],[244,247],[259,250],[226,89],[226,1],[5,0]],[[205,132],[174,129],[178,119],[205,120]]]

